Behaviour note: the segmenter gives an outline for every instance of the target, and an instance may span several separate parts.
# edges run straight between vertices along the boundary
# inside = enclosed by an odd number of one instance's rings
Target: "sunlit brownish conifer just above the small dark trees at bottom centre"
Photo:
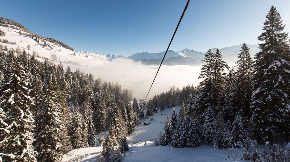
[[[124,129],[124,126],[125,124],[123,118],[121,117],[120,110],[118,106],[115,106],[109,130],[109,136],[112,140],[113,145],[117,145],[118,141],[126,135],[126,130]]]

